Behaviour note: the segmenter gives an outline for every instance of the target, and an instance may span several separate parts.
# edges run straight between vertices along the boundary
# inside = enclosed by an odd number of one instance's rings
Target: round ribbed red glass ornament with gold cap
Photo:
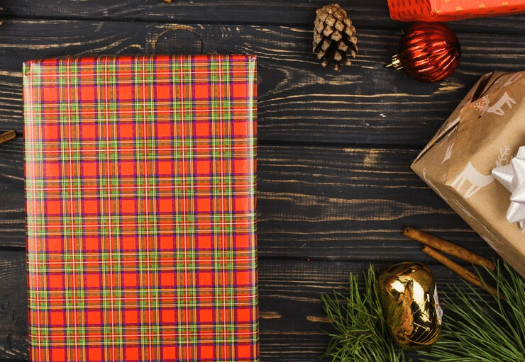
[[[443,23],[414,23],[399,41],[397,55],[387,67],[405,69],[410,77],[431,83],[449,77],[458,67],[458,37]]]

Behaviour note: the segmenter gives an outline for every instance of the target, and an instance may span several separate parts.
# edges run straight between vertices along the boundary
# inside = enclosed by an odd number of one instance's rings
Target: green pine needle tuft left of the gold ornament
[[[390,339],[377,294],[377,271],[370,266],[365,273],[365,293],[358,289],[358,277],[350,274],[346,295],[333,291],[321,295],[324,310],[335,332],[320,356],[333,362],[409,362]]]

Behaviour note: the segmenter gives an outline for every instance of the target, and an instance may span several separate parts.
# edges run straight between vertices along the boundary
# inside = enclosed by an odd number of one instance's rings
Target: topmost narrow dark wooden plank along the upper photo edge
[[[158,21],[177,23],[249,23],[311,25],[315,11],[328,4],[322,0],[64,0],[52,3],[38,0],[4,0],[4,18],[62,18],[123,21]],[[358,29],[391,29],[407,27],[407,23],[392,21],[386,0],[348,0],[341,3]],[[525,15],[499,16],[456,21],[456,31],[493,34],[524,34]]]

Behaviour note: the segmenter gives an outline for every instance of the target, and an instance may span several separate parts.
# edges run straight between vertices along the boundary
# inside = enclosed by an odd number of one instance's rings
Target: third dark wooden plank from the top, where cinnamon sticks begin
[[[1,247],[24,247],[22,140],[0,145]],[[407,224],[494,256],[409,169],[414,149],[261,146],[258,239],[262,257],[380,261],[420,245]],[[379,247],[380,246],[380,247]]]

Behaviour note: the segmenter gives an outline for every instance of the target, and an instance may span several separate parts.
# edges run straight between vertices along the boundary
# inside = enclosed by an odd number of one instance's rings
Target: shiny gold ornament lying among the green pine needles
[[[387,329],[407,349],[431,346],[441,335],[441,308],[431,270],[404,262],[389,266],[379,278],[379,295]]]

